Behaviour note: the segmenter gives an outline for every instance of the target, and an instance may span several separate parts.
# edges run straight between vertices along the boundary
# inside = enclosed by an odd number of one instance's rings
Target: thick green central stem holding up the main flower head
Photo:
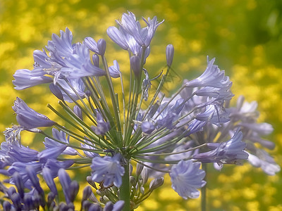
[[[129,160],[126,159],[123,165],[125,173],[123,175],[123,184],[120,188],[120,200],[124,201],[123,211],[130,211],[130,181],[129,181]]]

